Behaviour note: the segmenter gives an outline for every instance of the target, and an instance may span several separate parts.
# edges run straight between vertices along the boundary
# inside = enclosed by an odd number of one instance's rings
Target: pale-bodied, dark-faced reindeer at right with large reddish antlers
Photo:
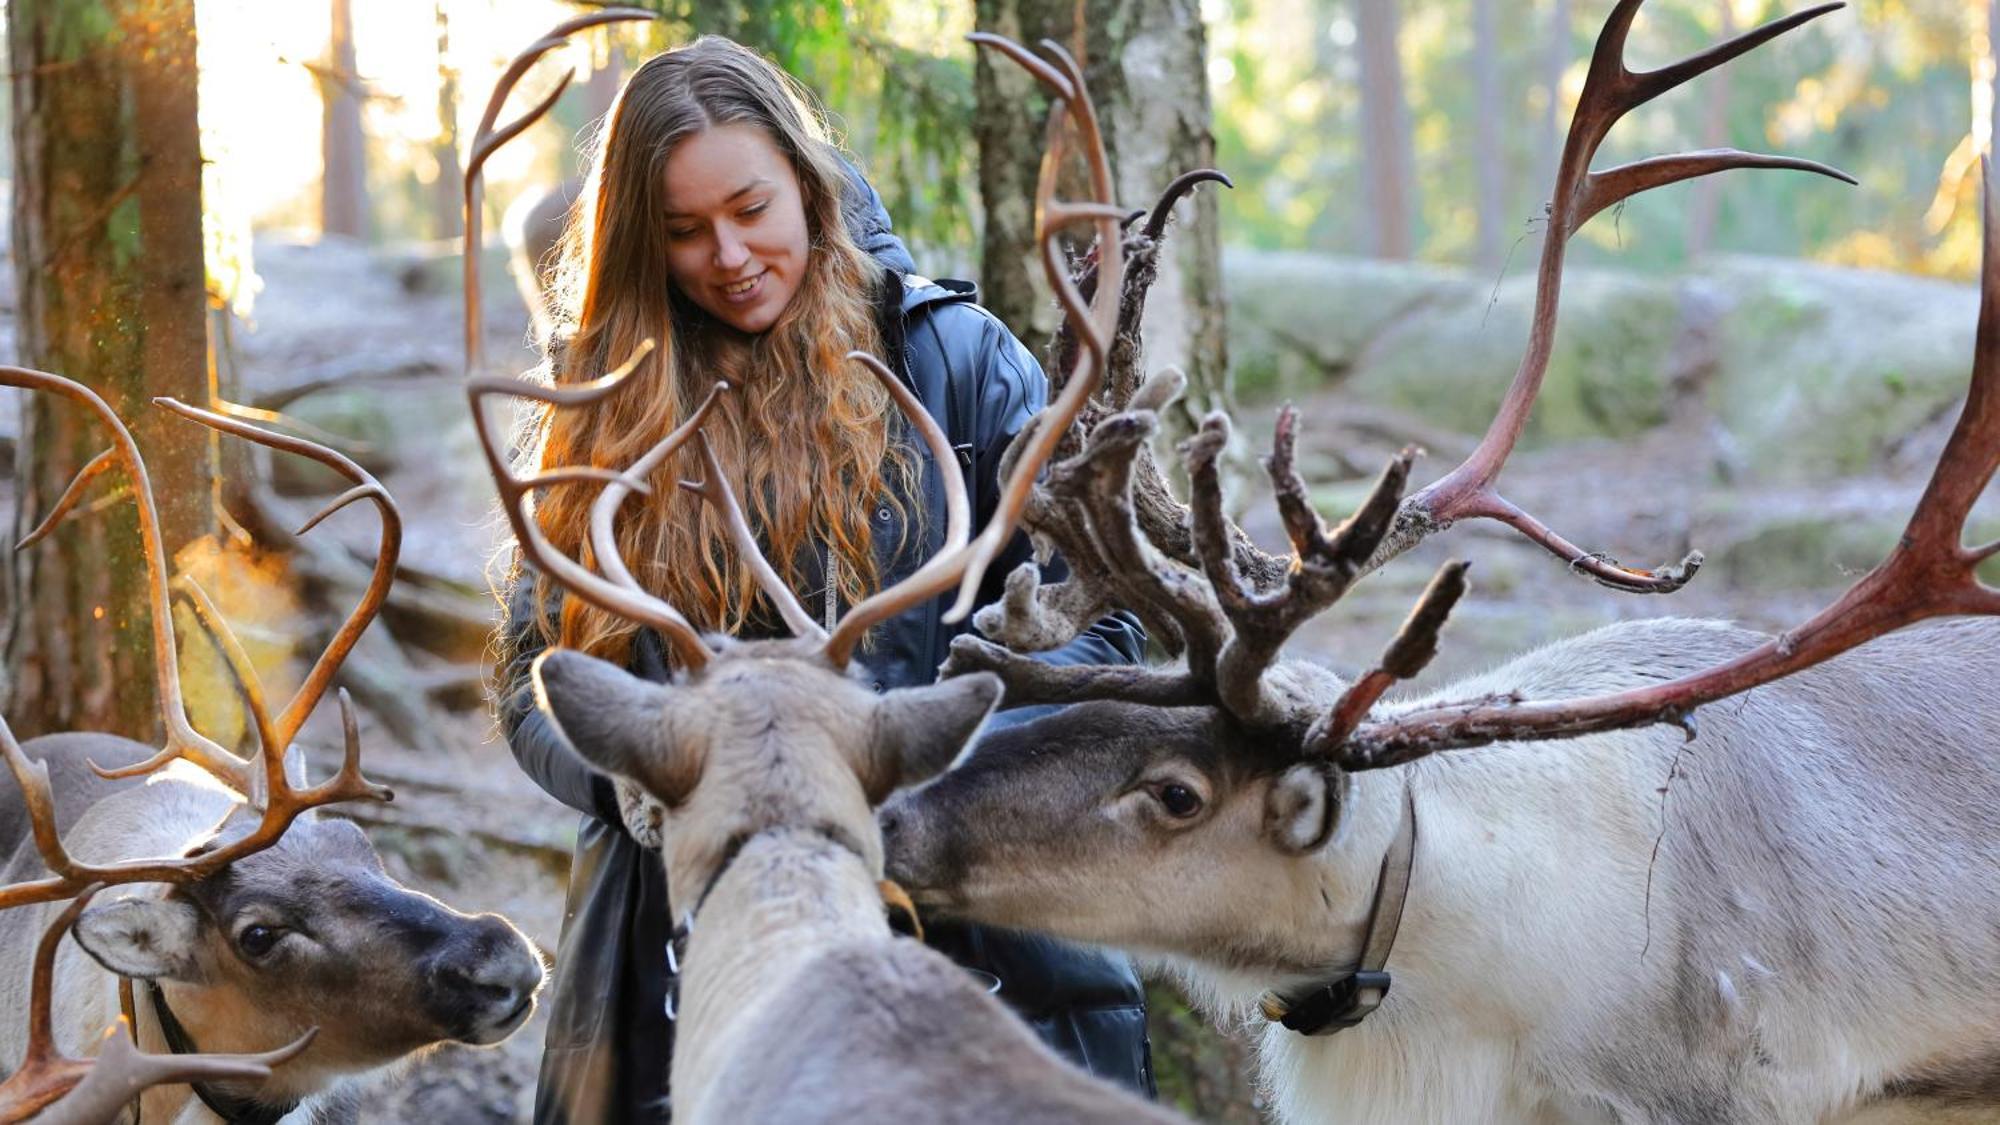
[[[1990,200],[1958,430],[1890,558],[1810,623],[1780,637],[1624,623],[1382,703],[1436,651],[1466,589],[1450,562],[1360,679],[1280,659],[1302,621],[1458,518],[1500,518],[1620,589],[1674,589],[1698,567],[1588,556],[1492,486],[1548,362],[1564,240],[1586,218],[1722,168],[1832,172],[1740,152],[1592,172],[1626,110],[1826,10],[1636,74],[1622,48],[1638,6],[1620,0],[1598,40],[1520,374],[1438,484],[1400,498],[1406,452],[1328,530],[1292,468],[1286,410],[1268,468],[1294,554],[1256,550],[1222,514],[1226,416],[1182,446],[1188,504],[1166,490],[1146,438],[1180,380],[1140,384],[1138,320],[1120,320],[1130,366],[1028,502],[1072,581],[1010,577],[978,621],[1004,647],[960,639],[948,665],[998,673],[1008,703],[1076,707],[1000,731],[888,805],[888,875],[926,909],[1130,949],[1220,1019],[1260,1025],[1286,1121],[1994,1121],[2000,629],[1888,635],[2000,615],[1974,575],[2000,544],[1960,544],[2000,464]],[[1142,296],[1126,284],[1128,310]],[[1096,330],[1076,320],[1066,340],[1102,350]],[[1184,661],[1022,655],[1102,605],[1138,611]]]

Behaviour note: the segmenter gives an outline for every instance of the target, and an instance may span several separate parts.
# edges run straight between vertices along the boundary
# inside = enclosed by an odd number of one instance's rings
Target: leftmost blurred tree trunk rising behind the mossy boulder
[[[1396,0],[1358,0],[1354,30],[1362,64],[1368,252],[1408,258],[1416,252],[1416,156],[1410,106],[1402,96]]]

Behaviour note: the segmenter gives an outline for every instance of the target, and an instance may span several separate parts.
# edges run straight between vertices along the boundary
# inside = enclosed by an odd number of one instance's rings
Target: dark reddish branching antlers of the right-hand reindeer
[[[1268,689],[1262,685],[1262,671],[1290,629],[1324,609],[1358,573],[1392,558],[1434,530],[1426,520],[1440,518],[1438,512],[1448,512],[1444,522],[1470,514],[1504,518],[1528,530],[1530,538],[1556,544],[1558,552],[1572,550],[1562,544],[1560,536],[1534,524],[1530,516],[1514,510],[1490,488],[1546,370],[1562,240],[1574,234],[1586,218],[1630,194],[1724,168],[1804,168],[1838,176],[1830,168],[1802,160],[1740,152],[1682,154],[1642,160],[1608,172],[1588,172],[1590,156],[1610,126],[1630,108],[1832,8],[1814,8],[1766,24],[1680,64],[1632,74],[1620,58],[1638,0],[1618,4],[1598,42],[1584,106],[1578,110],[1564,154],[1562,190],[1552,210],[1550,244],[1544,250],[1536,334],[1530,340],[1516,386],[1480,452],[1436,486],[1404,500],[1396,508],[1394,520],[1388,518],[1388,512],[1396,506],[1396,494],[1408,470],[1406,456],[1392,462],[1362,510],[1340,530],[1328,534],[1318,524],[1318,516],[1304,504],[1302,484],[1292,472],[1294,418],[1290,412],[1280,414],[1272,456],[1266,464],[1278,488],[1278,504],[1296,560],[1288,569],[1282,589],[1246,587],[1236,569],[1236,530],[1228,526],[1220,510],[1214,454],[1228,436],[1228,420],[1218,414],[1208,418],[1202,432],[1182,446],[1188,454],[1192,486],[1188,522],[1206,581],[1194,581],[1184,567],[1162,558],[1160,550],[1146,554],[1148,544],[1136,542],[1138,518],[1130,502],[1130,450],[1144,440],[1144,434],[1150,434],[1152,412],[1158,404],[1178,392],[1178,378],[1156,376],[1134,396],[1132,410],[1106,418],[1090,434],[1082,454],[1050,470],[1046,498],[1050,506],[1066,506],[1072,526],[1080,518],[1094,530],[1096,542],[1108,546],[1106,554],[1098,556],[1098,562],[1108,562],[1108,567],[1088,575],[1092,585],[1102,591],[1128,593],[1134,599],[1134,609],[1140,613],[1164,611],[1184,631],[1190,623],[1200,625],[1214,619],[1226,621],[1228,631],[1218,637],[1188,637],[1186,671],[1050,669],[968,637],[954,643],[948,671],[1000,673],[1008,683],[1010,703],[1074,703],[1082,699],[1126,699],[1158,707],[1220,703],[1252,725],[1296,735],[1300,755],[1326,757],[1344,769],[1360,771],[1496,741],[1566,739],[1664,721],[1688,725],[1692,735],[1692,711],[1704,703],[1798,673],[1918,621],[1950,615],[2000,615],[2000,591],[1982,585],[1976,575],[1982,562],[2000,556],[2000,542],[1976,548],[1962,544],[1972,504],[2000,468],[2000,230],[1994,224],[1992,186],[1988,184],[1978,350],[1964,414],[1900,544],[1882,567],[1866,575],[1832,607],[1734,661],[1658,687],[1572,701],[1472,699],[1368,721],[1366,717],[1382,693],[1392,683],[1414,677],[1434,655],[1444,619],[1466,589],[1464,565],[1450,562],[1432,581],[1382,663],[1350,685],[1340,701],[1318,715],[1310,727],[1304,731],[1296,727],[1300,713],[1296,707],[1286,709],[1288,701],[1264,697]],[[1412,534],[1416,538],[1410,538]],[[1134,560],[1144,562],[1144,567],[1130,565]],[[1694,562],[1698,558],[1692,558],[1690,567]],[[1634,591],[1670,589],[1686,579],[1684,573],[1632,575],[1616,569],[1604,569],[1596,577]],[[1006,619],[998,625],[1004,631],[1026,631],[1034,625],[1028,621],[1032,599],[1012,595],[1022,595],[1022,591],[1010,591],[1004,607]],[[1190,605],[1196,609],[1188,611]]]

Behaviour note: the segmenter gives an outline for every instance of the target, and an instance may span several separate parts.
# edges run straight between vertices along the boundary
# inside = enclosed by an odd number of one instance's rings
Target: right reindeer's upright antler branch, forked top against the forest
[[[1576,116],[1570,120],[1570,134],[1562,148],[1562,164],[1556,174],[1556,186],[1548,206],[1548,234],[1542,242],[1542,262],[1536,274],[1534,318],[1528,334],[1528,348],[1522,354],[1520,368],[1514,372],[1514,382],[1508,386],[1500,410],[1494,414],[1486,436],[1480,440],[1478,448],[1474,448],[1472,456],[1434,484],[1404,500],[1402,510],[1396,516],[1394,530],[1382,544],[1382,550],[1378,550],[1368,562],[1370,571],[1456,520],[1480,516],[1500,520],[1520,530],[1532,542],[1554,552],[1572,569],[1582,571],[1600,585],[1618,591],[1672,593],[1686,585],[1688,579],[1692,579],[1700,569],[1700,552],[1688,554],[1674,567],[1636,571],[1610,562],[1596,552],[1580,550],[1528,512],[1510,504],[1494,490],[1492,484],[1500,474],[1502,464],[1506,464],[1508,454],[1514,450],[1514,444],[1520,440],[1520,432],[1528,422],[1534,398],[1542,390],[1542,378],[1548,372],[1548,360],[1554,350],[1556,308],[1560,302],[1562,264],[1568,240],[1586,220],[1590,220],[1590,216],[1638,192],[1730,168],[1802,170],[1832,176],[1850,184],[1854,182],[1854,178],[1846,172],[1814,160],[1736,150],[1682,152],[1622,164],[1604,172],[1590,170],[1590,160],[1596,156],[1598,146],[1634,108],[1706,70],[1722,66],[1724,62],[1770,42],[1792,28],[1798,28],[1800,24],[1816,20],[1842,4],[1808,8],[1804,12],[1772,20],[1670,66],[1648,72],[1632,72],[1624,64],[1624,44],[1642,2],[1644,0],[1620,0],[1612,10],[1612,16],[1606,20],[1604,32],[1598,36],[1598,46],[1590,60],[1590,74],[1584,80],[1584,92],[1576,104]]]

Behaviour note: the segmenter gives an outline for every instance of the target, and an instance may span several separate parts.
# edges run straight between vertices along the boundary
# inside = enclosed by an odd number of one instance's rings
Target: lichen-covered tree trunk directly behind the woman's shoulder
[[[1120,204],[1150,208],[1180,172],[1214,166],[1208,40],[1196,0],[978,0],[976,20],[980,30],[1028,44],[1054,38],[1078,56],[1104,126]],[[1038,346],[1058,322],[1034,246],[1034,184],[1048,100],[1018,66],[988,52],[978,56],[976,92],[986,204],[982,300],[1014,334]],[[1066,190],[1078,198],[1084,184]],[[1198,188],[1176,208],[1144,324],[1146,368],[1180,366],[1196,416],[1228,404],[1216,190]]]

